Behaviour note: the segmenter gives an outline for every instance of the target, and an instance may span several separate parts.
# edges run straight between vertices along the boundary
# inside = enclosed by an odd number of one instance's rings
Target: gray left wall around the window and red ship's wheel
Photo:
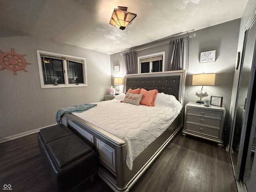
[[[24,56],[25,72],[0,70],[0,138],[55,124],[59,108],[104,100],[111,84],[110,55],[33,36],[0,38],[2,52]],[[41,89],[36,50],[86,58],[88,86]],[[0,65],[2,68],[2,66]]]

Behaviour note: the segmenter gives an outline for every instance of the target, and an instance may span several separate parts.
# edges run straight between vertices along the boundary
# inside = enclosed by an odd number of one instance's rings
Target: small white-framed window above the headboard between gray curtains
[[[138,73],[164,71],[164,54],[165,52],[159,52],[138,57]]]

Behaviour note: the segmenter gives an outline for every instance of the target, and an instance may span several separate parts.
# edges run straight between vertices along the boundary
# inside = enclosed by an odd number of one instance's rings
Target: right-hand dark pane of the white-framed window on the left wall
[[[80,84],[84,83],[83,64],[73,61],[68,61],[68,83]]]

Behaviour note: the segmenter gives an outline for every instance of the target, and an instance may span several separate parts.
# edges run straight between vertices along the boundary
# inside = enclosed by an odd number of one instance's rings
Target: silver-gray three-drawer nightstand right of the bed
[[[222,139],[226,110],[224,105],[205,107],[204,104],[188,102],[185,106],[182,135],[192,135],[224,146]]]

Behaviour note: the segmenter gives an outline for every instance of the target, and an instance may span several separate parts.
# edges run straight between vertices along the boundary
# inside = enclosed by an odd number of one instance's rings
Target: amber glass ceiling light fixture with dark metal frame
[[[124,30],[132,23],[132,20],[134,20],[136,16],[137,14],[127,12],[127,7],[118,6],[117,9],[114,9],[109,23]]]

